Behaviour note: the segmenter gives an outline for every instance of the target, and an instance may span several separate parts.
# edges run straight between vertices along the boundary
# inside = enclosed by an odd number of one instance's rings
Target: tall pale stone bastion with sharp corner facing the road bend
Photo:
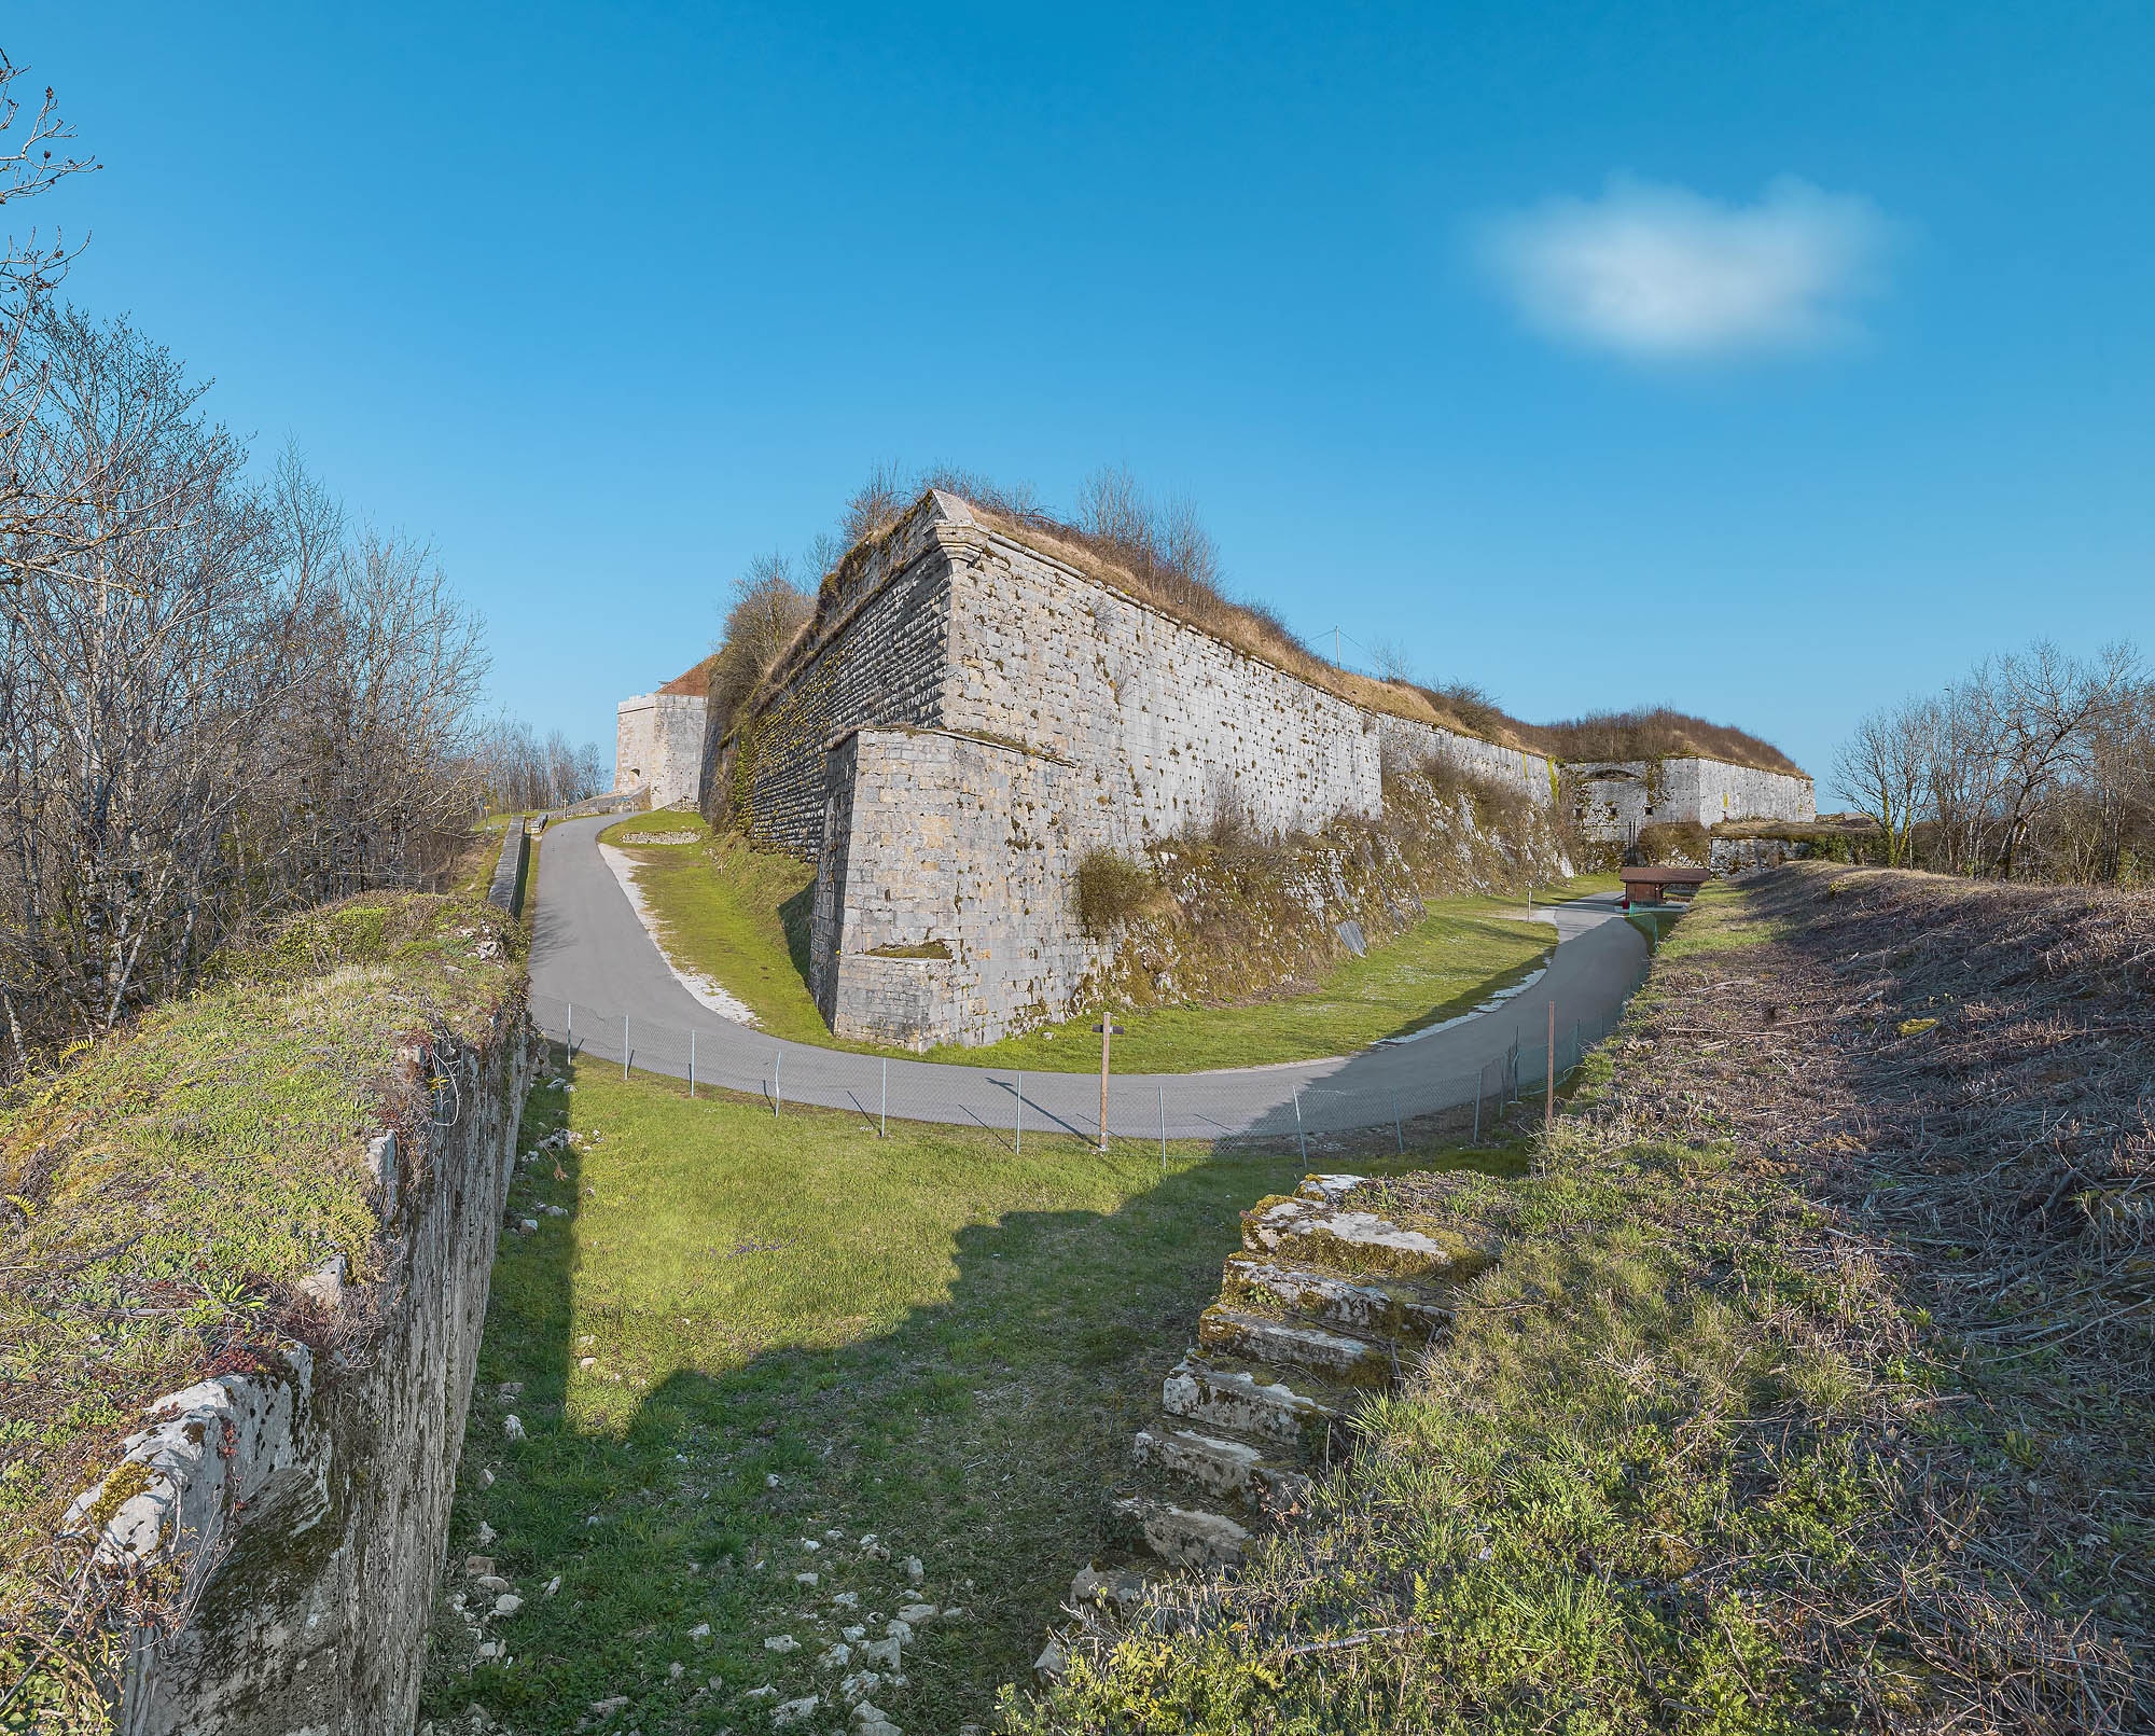
[[[703,806],[817,864],[810,986],[838,1036],[927,1049],[1065,1017],[1099,963],[1071,896],[1095,849],[1228,812],[1274,834],[1375,818],[1388,760],[1556,799],[1541,754],[1323,691],[942,491],[836,586],[705,747],[724,790]]]

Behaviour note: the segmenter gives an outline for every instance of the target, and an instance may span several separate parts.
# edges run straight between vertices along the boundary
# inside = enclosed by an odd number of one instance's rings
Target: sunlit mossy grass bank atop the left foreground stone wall
[[[353,898],[0,1103],[0,1689],[52,1613],[39,1568],[73,1559],[45,1553],[58,1508],[140,1406],[274,1355],[332,1254],[377,1277],[364,1135],[399,1111],[397,1051],[483,1036],[519,954],[485,905]]]

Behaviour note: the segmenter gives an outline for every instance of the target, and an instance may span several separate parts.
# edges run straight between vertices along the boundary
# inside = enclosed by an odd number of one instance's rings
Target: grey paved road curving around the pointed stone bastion
[[[1024,1073],[948,1066],[819,1049],[765,1036],[705,1008],[659,956],[597,836],[614,814],[562,821],[539,851],[532,915],[532,1017],[550,1036],[573,1036],[580,1053],[621,1060],[623,1021],[634,1064],[763,1092],[782,1103],[819,1103],[875,1118],[981,1122],[1006,1133],[1060,1126],[1099,1133],[1097,1073]],[[1478,1081],[1496,1088],[1513,1042],[1539,1079],[1547,1006],[1556,1002],[1558,1051],[1571,1058],[1573,1021],[1588,1040],[1605,1030],[1646,974],[1646,941],[1614,898],[1534,911],[1556,926],[1549,969],[1524,993],[1427,1036],[1379,1042],[1355,1055],[1222,1073],[1118,1075],[1108,1124],[1118,1137],[1207,1139],[1222,1133],[1291,1135],[1373,1126],[1470,1103]],[[692,1049],[694,1042],[694,1049]],[[884,1096],[888,1092],[888,1098]]]

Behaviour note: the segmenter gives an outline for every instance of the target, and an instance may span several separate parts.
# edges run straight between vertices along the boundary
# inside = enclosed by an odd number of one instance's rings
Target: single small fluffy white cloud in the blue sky
[[[1806,349],[1851,336],[1892,224],[1860,194],[1780,177],[1756,205],[1627,174],[1487,224],[1485,265],[1528,323],[1638,358]]]

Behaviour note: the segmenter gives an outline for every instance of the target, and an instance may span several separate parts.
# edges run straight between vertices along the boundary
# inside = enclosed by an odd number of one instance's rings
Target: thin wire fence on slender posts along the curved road
[[[1496,1032],[1504,1014],[1487,1014]],[[998,1133],[1021,1152],[1026,1139],[1067,1135],[1086,1144],[1205,1139],[1215,1150],[1405,1154],[1435,1142],[1480,1139],[1519,1103],[1549,1090],[1549,1060],[1562,1083],[1612,1030],[1610,1019],[1558,1021],[1556,1045],[1515,1025],[1515,1038],[1472,1073],[1418,1066],[1416,1040],[1364,1049],[1321,1075],[1306,1068],[1235,1073],[1110,1075],[950,1066],[903,1055],[851,1053],[780,1042],[743,1025],[687,1027],[606,1006],[532,997],[532,1023],[584,1062],[612,1062],[621,1077],[649,1073],[687,1083],[692,1096],[726,1092],[784,1116],[804,1107],[890,1122],[944,1122]],[[1496,1034],[1491,1032],[1491,1036]],[[1541,1042],[1526,1042],[1541,1036]]]

